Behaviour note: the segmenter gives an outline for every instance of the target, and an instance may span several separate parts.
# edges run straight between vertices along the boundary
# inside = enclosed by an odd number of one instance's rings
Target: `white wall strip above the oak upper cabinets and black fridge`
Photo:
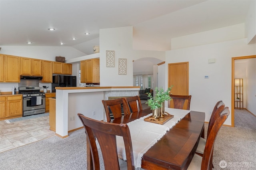
[[[20,57],[44,59],[55,61],[56,56],[62,56],[66,59],[86,55],[73,47],[47,47],[47,46],[1,46],[1,53],[16,55]]]

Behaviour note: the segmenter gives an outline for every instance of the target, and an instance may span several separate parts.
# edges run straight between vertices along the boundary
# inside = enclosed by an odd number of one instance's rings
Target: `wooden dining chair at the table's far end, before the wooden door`
[[[184,96],[184,95],[170,95],[172,98],[168,101],[168,107],[170,108],[170,102],[173,101],[174,109],[185,109],[189,110],[190,108],[190,101],[191,101],[191,95]],[[187,101],[187,106],[184,106],[185,101]]]

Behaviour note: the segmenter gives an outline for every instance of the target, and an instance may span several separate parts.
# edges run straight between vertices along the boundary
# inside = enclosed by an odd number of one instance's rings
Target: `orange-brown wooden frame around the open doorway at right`
[[[232,57],[232,68],[231,68],[231,127],[234,127],[234,108],[235,108],[235,60],[236,59],[250,59],[250,58],[256,58],[256,55],[248,55],[248,56],[242,56],[242,57]]]

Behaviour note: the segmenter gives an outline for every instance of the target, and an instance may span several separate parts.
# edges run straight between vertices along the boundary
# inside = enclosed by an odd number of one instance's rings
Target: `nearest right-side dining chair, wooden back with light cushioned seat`
[[[224,107],[224,109],[222,109],[220,112],[220,116],[215,120],[212,129],[209,132],[203,156],[194,154],[192,161],[188,166],[188,170],[212,170],[212,162],[210,160],[212,160],[213,156],[214,142],[216,140],[218,131],[228,118],[229,114],[230,111],[228,107]]]

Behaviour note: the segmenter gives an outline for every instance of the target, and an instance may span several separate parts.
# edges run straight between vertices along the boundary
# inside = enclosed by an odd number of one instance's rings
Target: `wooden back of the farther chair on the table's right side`
[[[210,133],[210,130],[212,129],[212,126],[214,125],[214,122],[218,117],[220,117],[220,112],[224,109],[225,104],[222,101],[218,101],[216,105],[213,108],[212,115],[210,117],[208,130],[207,130],[207,137]]]

